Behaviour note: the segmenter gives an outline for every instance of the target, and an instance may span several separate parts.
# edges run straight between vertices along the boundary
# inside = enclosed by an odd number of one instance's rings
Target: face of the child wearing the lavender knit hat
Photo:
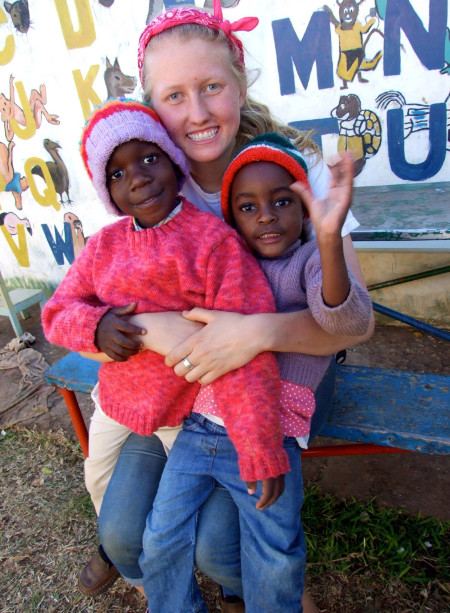
[[[163,221],[176,205],[175,168],[153,143],[131,140],[116,147],[106,165],[106,185],[122,213],[143,228]]]

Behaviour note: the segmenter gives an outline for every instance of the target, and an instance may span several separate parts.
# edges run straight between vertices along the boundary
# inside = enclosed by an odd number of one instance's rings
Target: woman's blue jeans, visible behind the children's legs
[[[334,394],[334,360],[317,392],[311,437],[325,423]],[[317,425],[315,425],[317,424]],[[315,432],[317,434],[317,432]],[[152,509],[166,454],[156,436],[131,434],[122,447],[103,499],[99,536],[107,555],[133,585],[142,585],[138,560],[142,535]],[[222,585],[243,596],[241,582],[239,514],[229,492],[216,485],[203,504],[197,523],[195,565]]]

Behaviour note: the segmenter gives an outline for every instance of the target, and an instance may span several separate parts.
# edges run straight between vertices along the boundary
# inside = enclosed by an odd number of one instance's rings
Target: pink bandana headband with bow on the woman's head
[[[220,0],[214,0],[214,15],[205,13],[196,8],[171,9],[165,13],[162,13],[161,15],[158,15],[152,19],[139,37],[138,68],[139,78],[142,85],[144,85],[143,67],[145,49],[147,48],[150,39],[153,38],[153,36],[164,32],[164,30],[180,26],[184,23],[197,23],[199,25],[206,26],[207,28],[211,28],[212,30],[222,30],[231,46],[235,49],[239,62],[242,64],[242,66],[244,66],[244,49],[241,41],[234,36],[233,32],[250,32],[256,28],[258,22],[259,20],[257,17],[243,17],[242,19],[238,19],[233,23],[224,21]]]

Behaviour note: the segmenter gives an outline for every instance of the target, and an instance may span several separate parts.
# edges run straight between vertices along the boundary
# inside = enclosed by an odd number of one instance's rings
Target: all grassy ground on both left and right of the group
[[[144,598],[121,579],[96,599],[76,587],[97,547],[77,444],[62,432],[9,429],[0,474],[0,613],[144,613]],[[450,613],[448,523],[316,488],[303,524],[307,585],[321,611]],[[199,580],[208,610],[218,612],[214,584]]]

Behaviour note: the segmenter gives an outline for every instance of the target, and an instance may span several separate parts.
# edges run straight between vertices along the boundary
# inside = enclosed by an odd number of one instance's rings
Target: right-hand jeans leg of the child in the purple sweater
[[[237,454],[228,437],[214,457],[213,476],[230,489],[241,526],[241,566],[247,613],[299,613],[306,564],[306,545],[300,512],[303,502],[300,449],[285,439],[291,470],[285,491],[271,507],[258,511],[260,485],[249,496],[241,481]]]

